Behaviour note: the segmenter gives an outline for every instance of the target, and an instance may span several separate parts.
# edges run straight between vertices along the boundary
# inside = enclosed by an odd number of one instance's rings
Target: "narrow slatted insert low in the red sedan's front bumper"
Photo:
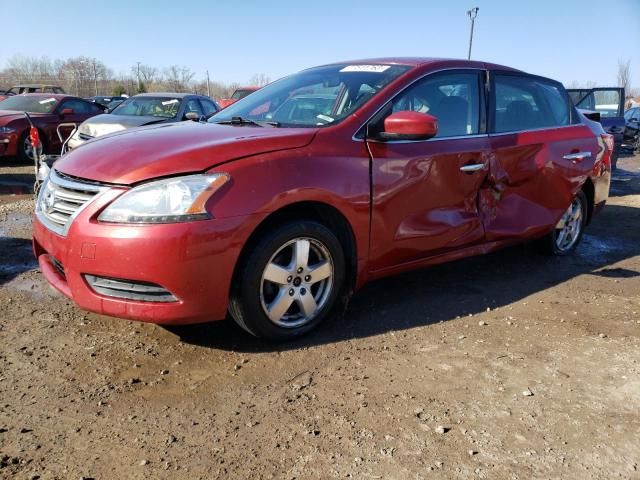
[[[167,289],[158,284],[124,280],[119,278],[84,275],[89,286],[96,292],[107,297],[124,298],[140,302],[177,302],[178,299]]]

